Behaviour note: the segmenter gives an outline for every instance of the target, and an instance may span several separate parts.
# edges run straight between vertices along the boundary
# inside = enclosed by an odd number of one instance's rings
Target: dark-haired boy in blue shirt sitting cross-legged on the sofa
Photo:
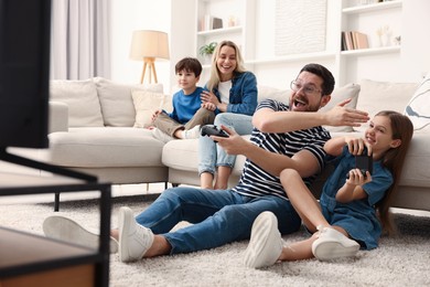
[[[200,136],[201,126],[213,124],[213,110],[202,107],[203,87],[197,86],[202,64],[197,59],[184,57],[175,65],[178,86],[181,91],[173,95],[173,111],[158,109],[152,115],[155,138],[162,141],[190,139]]]

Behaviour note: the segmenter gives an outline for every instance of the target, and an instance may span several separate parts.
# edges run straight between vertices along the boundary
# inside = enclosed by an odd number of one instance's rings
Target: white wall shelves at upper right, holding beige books
[[[342,31],[359,31],[367,34],[368,49],[340,52],[338,82],[346,84],[357,78],[375,78],[369,66],[399,66],[401,45],[394,38],[401,34],[402,1],[393,0],[369,4],[357,4],[356,1],[343,1],[341,13]],[[387,30],[387,35],[378,36],[377,31]],[[348,71],[348,73],[343,73]],[[362,75],[362,76],[361,76]]]

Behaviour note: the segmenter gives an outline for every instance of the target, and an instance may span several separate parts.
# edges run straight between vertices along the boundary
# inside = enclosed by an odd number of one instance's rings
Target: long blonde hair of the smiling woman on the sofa
[[[236,52],[236,68],[234,72],[237,73],[244,73],[246,72],[246,68],[244,66],[244,59],[241,56],[239,47],[232,41],[225,40],[218,43],[215,47],[214,54],[212,55],[211,60],[211,77],[207,81],[206,87],[208,91],[213,91],[214,87],[217,87],[221,82],[221,73],[216,65],[216,62],[219,57],[219,52],[223,46],[230,46]]]

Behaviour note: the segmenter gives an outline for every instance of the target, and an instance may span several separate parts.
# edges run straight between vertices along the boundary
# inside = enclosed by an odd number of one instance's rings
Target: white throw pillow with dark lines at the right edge
[[[413,129],[419,130],[430,125],[430,73],[427,74],[412,98],[409,100],[405,109],[413,124]]]

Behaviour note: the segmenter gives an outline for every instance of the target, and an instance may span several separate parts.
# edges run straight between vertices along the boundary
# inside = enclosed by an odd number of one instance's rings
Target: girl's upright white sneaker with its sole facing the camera
[[[245,251],[245,266],[261,268],[273,265],[282,253],[282,237],[273,213],[265,211],[254,221],[251,237]]]

